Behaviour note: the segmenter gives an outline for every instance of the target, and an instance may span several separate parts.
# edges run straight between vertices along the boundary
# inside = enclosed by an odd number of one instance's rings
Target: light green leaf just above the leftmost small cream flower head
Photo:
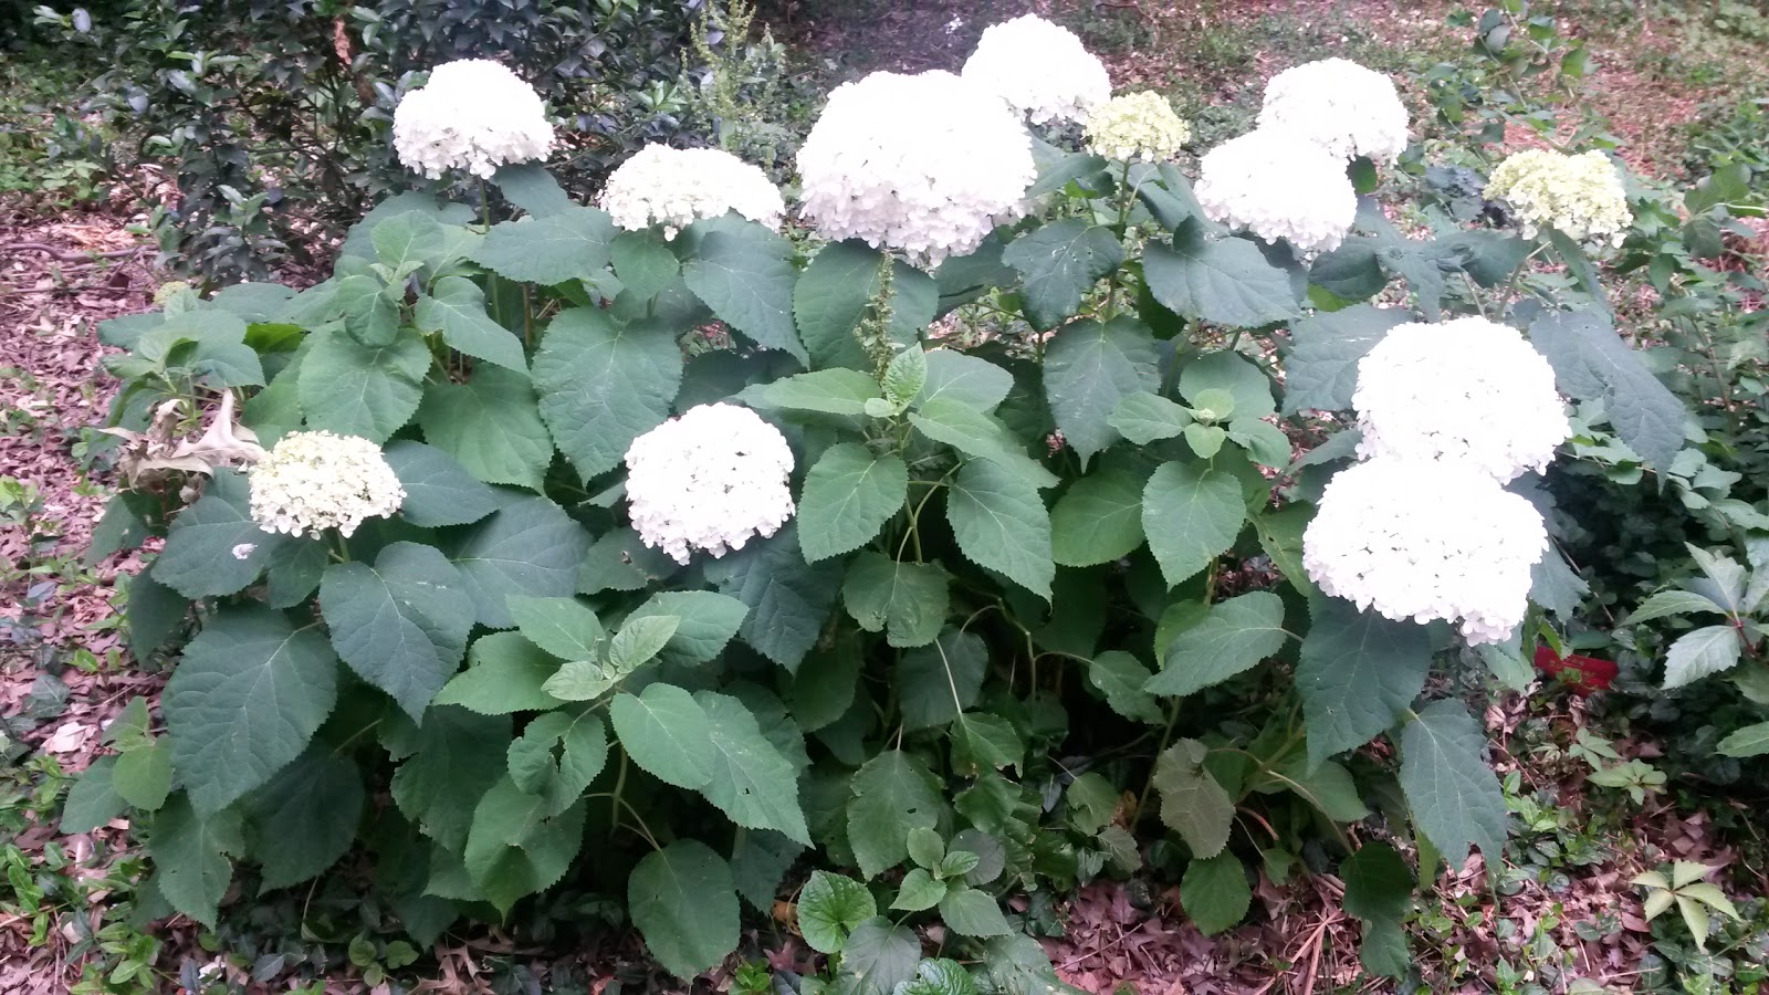
[[[308,428],[386,443],[417,413],[430,363],[416,331],[402,331],[382,347],[338,331],[313,333],[295,381]]]

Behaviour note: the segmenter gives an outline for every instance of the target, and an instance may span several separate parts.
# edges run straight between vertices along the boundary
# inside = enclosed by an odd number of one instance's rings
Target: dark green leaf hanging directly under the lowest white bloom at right
[[[1419,698],[1431,673],[1431,637],[1422,625],[1390,621],[1341,598],[1311,609],[1297,694],[1314,765],[1367,744]]]

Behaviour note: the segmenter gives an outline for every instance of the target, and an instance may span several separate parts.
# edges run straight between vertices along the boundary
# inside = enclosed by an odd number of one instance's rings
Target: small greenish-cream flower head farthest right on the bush
[[[1527,239],[1546,227],[1573,239],[1622,244],[1635,223],[1622,174],[1597,150],[1578,156],[1550,149],[1512,152],[1493,170],[1486,197],[1516,209]]]

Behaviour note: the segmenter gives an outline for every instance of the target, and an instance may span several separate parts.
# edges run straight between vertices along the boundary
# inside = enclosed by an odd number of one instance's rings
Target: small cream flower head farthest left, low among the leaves
[[[269,533],[356,531],[400,510],[405,487],[380,446],[356,436],[290,432],[251,467],[251,519]]]

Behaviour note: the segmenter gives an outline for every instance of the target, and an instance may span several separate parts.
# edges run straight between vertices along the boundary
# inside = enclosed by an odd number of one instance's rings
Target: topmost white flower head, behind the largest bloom
[[[964,78],[1031,115],[1033,124],[1083,120],[1111,96],[1106,66],[1074,32],[1037,14],[984,28]]]

